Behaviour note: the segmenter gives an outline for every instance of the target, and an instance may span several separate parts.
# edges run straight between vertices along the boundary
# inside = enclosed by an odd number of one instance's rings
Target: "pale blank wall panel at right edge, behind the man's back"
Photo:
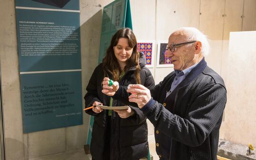
[[[256,145],[256,31],[231,32],[224,138]]]

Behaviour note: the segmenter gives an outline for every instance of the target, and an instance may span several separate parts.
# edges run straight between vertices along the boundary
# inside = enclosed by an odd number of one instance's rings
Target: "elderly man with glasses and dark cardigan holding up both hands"
[[[129,85],[126,92],[122,86],[108,86],[106,77],[102,92],[138,104],[155,126],[160,160],[217,160],[226,88],[204,59],[207,38],[196,28],[179,28],[166,49],[174,71],[153,89]]]

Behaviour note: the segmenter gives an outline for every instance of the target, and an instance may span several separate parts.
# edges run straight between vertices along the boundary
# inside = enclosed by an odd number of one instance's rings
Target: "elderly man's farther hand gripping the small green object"
[[[113,85],[109,86],[108,85],[109,84],[109,82],[108,82],[109,80],[110,79],[108,77],[105,77],[103,79],[103,82],[102,82],[103,89],[101,90],[101,92],[103,94],[107,94],[109,96],[113,96],[117,92],[117,90],[119,88],[119,84],[118,84],[117,81],[115,81],[115,82],[113,82]]]

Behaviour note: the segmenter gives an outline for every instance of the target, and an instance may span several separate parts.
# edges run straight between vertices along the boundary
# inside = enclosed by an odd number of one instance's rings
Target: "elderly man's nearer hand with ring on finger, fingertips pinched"
[[[138,104],[139,108],[144,107],[144,105],[151,99],[149,89],[143,85],[129,85],[127,92],[131,93],[129,101]]]

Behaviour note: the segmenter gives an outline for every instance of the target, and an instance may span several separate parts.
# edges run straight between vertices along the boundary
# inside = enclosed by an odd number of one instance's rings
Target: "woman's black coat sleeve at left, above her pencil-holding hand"
[[[87,93],[84,96],[85,99],[85,108],[88,108],[92,106],[94,101],[101,102],[98,99],[98,94],[97,94],[97,69],[96,67],[93,71],[93,74],[91,75],[91,78],[89,80],[89,83],[86,87]],[[90,115],[96,115],[97,113],[93,112],[92,109],[86,110],[86,113]]]

